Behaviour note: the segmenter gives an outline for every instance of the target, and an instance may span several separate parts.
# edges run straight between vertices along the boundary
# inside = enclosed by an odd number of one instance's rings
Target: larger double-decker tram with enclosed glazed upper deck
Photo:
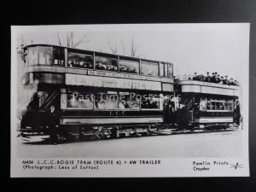
[[[26,46],[23,58],[22,82],[34,90],[22,113],[23,136],[50,134],[52,121],[61,137],[149,135],[169,119],[171,63],[49,44]]]

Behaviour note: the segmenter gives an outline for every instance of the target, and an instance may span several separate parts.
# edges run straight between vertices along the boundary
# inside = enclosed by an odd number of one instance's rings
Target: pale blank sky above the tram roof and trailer
[[[137,55],[142,58],[168,61],[174,65],[174,75],[218,72],[240,81],[243,77],[241,55],[248,46],[244,30],[246,24],[188,24],[188,25],[109,25],[109,26],[28,26],[20,32],[26,44],[53,44],[60,32],[66,42],[67,32],[74,32],[75,42],[84,34],[84,44],[79,49],[109,52],[108,41],[125,44],[126,54],[131,40],[137,45]],[[243,27],[242,27],[243,26]],[[26,27],[26,26],[25,26]],[[28,30],[30,29],[30,30]],[[55,37],[55,38],[54,38]],[[107,40],[108,39],[108,40]],[[20,41],[20,39],[19,39]],[[248,56],[248,55],[247,55]]]

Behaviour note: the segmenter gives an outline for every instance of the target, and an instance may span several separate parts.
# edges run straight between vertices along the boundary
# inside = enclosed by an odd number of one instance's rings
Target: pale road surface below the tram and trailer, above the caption
[[[52,145],[34,138],[18,137],[19,157],[239,157],[242,130],[152,137],[125,137],[100,141],[76,141]]]

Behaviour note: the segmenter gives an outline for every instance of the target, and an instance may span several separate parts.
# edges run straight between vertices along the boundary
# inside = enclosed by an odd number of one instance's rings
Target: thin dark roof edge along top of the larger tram
[[[77,49],[77,48],[71,48],[71,47],[66,47],[66,46],[60,46],[60,45],[55,45],[55,44],[27,44],[26,46],[23,47],[23,49],[27,48],[27,47],[36,47],[36,46],[45,46],[45,47],[57,47],[57,48],[63,48],[63,49],[72,49],[73,51],[77,51],[79,53],[81,52],[90,52],[90,53],[95,53],[95,54],[99,54],[99,55],[108,55],[108,56],[113,56],[113,57],[122,57],[125,58],[127,60],[131,60],[131,61],[149,61],[149,62],[162,62],[162,63],[168,63],[173,65],[171,62],[167,62],[167,61],[156,61],[156,60],[148,60],[145,58],[141,58],[141,57],[132,57],[132,56],[127,56],[127,55],[118,55],[118,54],[110,54],[110,53],[106,53],[106,52],[100,52],[100,51],[95,51],[95,50],[88,50],[88,49]]]

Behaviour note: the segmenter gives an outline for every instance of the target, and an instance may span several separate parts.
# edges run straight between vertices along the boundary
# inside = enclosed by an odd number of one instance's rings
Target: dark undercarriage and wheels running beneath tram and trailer
[[[190,125],[190,128],[181,128],[177,124],[167,125],[107,125],[107,126],[84,126],[84,125],[62,125],[55,128],[55,134],[58,141],[84,141],[84,140],[102,140],[116,139],[124,137],[150,137],[165,136],[177,134],[193,134],[212,131],[235,131],[239,128],[236,124],[208,124],[208,125]],[[32,136],[49,136],[51,131],[49,127],[40,129],[20,130],[21,137],[27,139]]]

